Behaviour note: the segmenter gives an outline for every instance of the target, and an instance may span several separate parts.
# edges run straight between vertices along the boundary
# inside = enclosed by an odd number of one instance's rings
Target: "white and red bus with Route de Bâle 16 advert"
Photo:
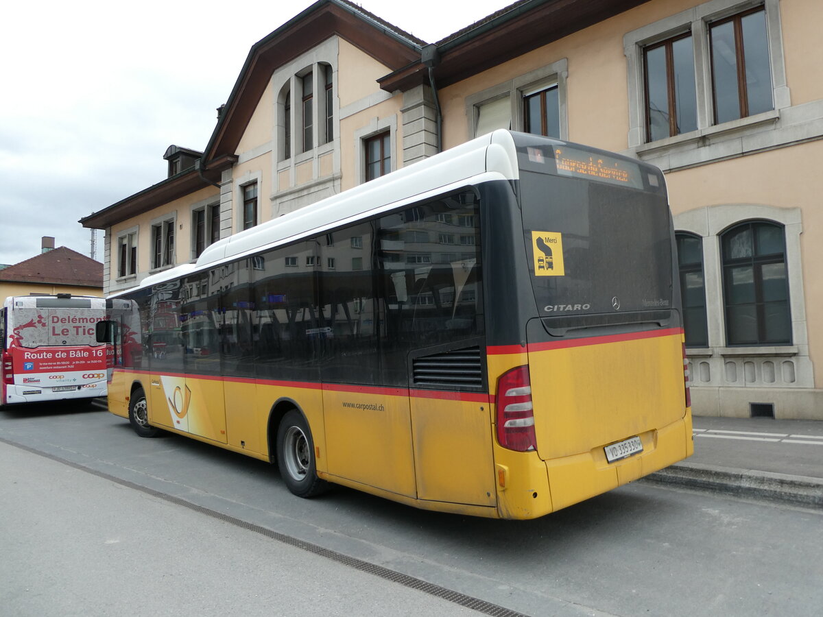
[[[0,309],[0,405],[105,397],[106,347],[95,341],[105,299],[12,296]]]

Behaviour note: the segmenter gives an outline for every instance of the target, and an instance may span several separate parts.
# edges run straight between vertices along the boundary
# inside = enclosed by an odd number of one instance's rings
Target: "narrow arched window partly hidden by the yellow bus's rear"
[[[683,328],[686,347],[708,347],[709,327],[706,321],[706,287],[703,276],[703,239],[684,232],[677,238],[677,265],[680,269],[680,290],[683,299]]]

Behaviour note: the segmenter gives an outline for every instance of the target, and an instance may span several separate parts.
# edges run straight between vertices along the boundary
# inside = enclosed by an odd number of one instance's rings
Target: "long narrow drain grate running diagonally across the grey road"
[[[286,534],[282,534],[277,531],[272,531],[271,529],[267,529],[267,527],[255,525],[252,522],[244,521],[237,517],[231,517],[227,514],[217,512],[216,510],[212,510],[210,508],[204,508],[203,506],[200,506],[197,503],[191,503],[190,501],[186,501],[185,499],[174,497],[174,495],[161,493],[159,490],[149,489],[146,486],[138,485],[129,480],[123,480],[123,478],[111,476],[105,473],[104,471],[97,471],[96,469],[92,469],[91,467],[86,467],[79,463],[68,461],[65,458],[49,454],[49,452],[42,452],[35,448],[30,448],[30,446],[26,446],[21,443],[15,443],[4,438],[0,438],[0,442],[7,443],[8,445],[14,446],[15,448],[20,448],[21,450],[26,450],[26,452],[31,452],[32,454],[37,454],[40,457],[49,458],[52,461],[63,463],[63,465],[73,467],[74,469],[86,471],[86,473],[90,473],[93,476],[105,478],[105,480],[109,480],[111,482],[114,482],[115,484],[128,487],[129,489],[139,490],[140,492],[149,494],[152,497],[163,499],[168,503],[174,503],[175,505],[182,506],[183,508],[193,510],[193,512],[205,514],[207,517],[212,517],[216,518],[219,521],[228,522],[231,525],[235,525],[235,527],[241,527],[243,529],[253,531],[254,533],[260,534],[261,536],[266,536],[271,540],[277,540],[278,542],[282,542],[283,544],[294,546],[295,548],[298,548],[300,550],[305,550],[309,553],[316,554],[319,557],[330,559],[334,562],[337,562],[337,564],[346,565],[350,568],[360,570],[360,572],[373,574],[374,576],[383,578],[387,581],[396,582],[399,585],[402,585],[403,587],[410,587],[412,589],[416,589],[417,591],[423,591],[424,593],[427,593],[430,596],[442,598],[445,601],[465,606],[468,609],[477,610],[477,612],[483,613],[484,615],[493,615],[494,617],[528,617],[523,613],[518,613],[515,610],[507,609],[504,606],[492,604],[491,602],[481,600],[480,598],[467,596],[463,593],[460,593],[459,591],[446,589],[445,587],[440,587],[439,585],[435,585],[434,583],[426,582],[421,580],[420,578],[414,578],[407,574],[399,573],[395,570],[384,568],[383,566],[379,566],[377,564],[370,564],[368,561],[364,561],[363,559],[356,559],[355,557],[350,557],[349,555],[338,553],[336,550],[329,550],[323,548],[323,546],[313,544],[312,542],[300,540],[299,538],[295,538],[293,536],[286,536]]]

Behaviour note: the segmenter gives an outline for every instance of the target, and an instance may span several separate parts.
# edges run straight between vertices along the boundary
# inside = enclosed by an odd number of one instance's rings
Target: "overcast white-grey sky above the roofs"
[[[511,0],[362,0],[435,42]],[[309,0],[7,2],[0,20],[0,263],[166,176],[171,144],[203,150],[251,46]],[[97,259],[103,259],[97,232]]]

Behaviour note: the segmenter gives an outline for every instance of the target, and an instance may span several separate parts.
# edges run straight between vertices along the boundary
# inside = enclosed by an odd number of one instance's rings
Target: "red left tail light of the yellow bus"
[[[511,369],[497,380],[495,403],[498,443],[518,452],[536,450],[532,382],[528,366]]]

